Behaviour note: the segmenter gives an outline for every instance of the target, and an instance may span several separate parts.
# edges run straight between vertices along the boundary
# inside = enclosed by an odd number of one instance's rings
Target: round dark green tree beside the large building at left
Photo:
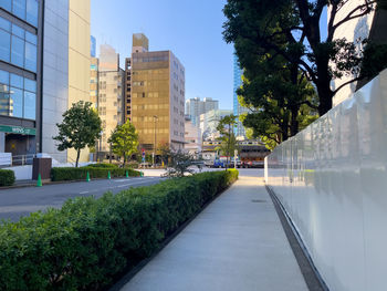
[[[98,113],[92,108],[91,102],[80,101],[74,103],[63,115],[63,122],[56,124],[59,128],[59,150],[74,148],[76,150],[75,167],[79,166],[81,149],[94,146],[95,141],[101,137],[101,118]]]

